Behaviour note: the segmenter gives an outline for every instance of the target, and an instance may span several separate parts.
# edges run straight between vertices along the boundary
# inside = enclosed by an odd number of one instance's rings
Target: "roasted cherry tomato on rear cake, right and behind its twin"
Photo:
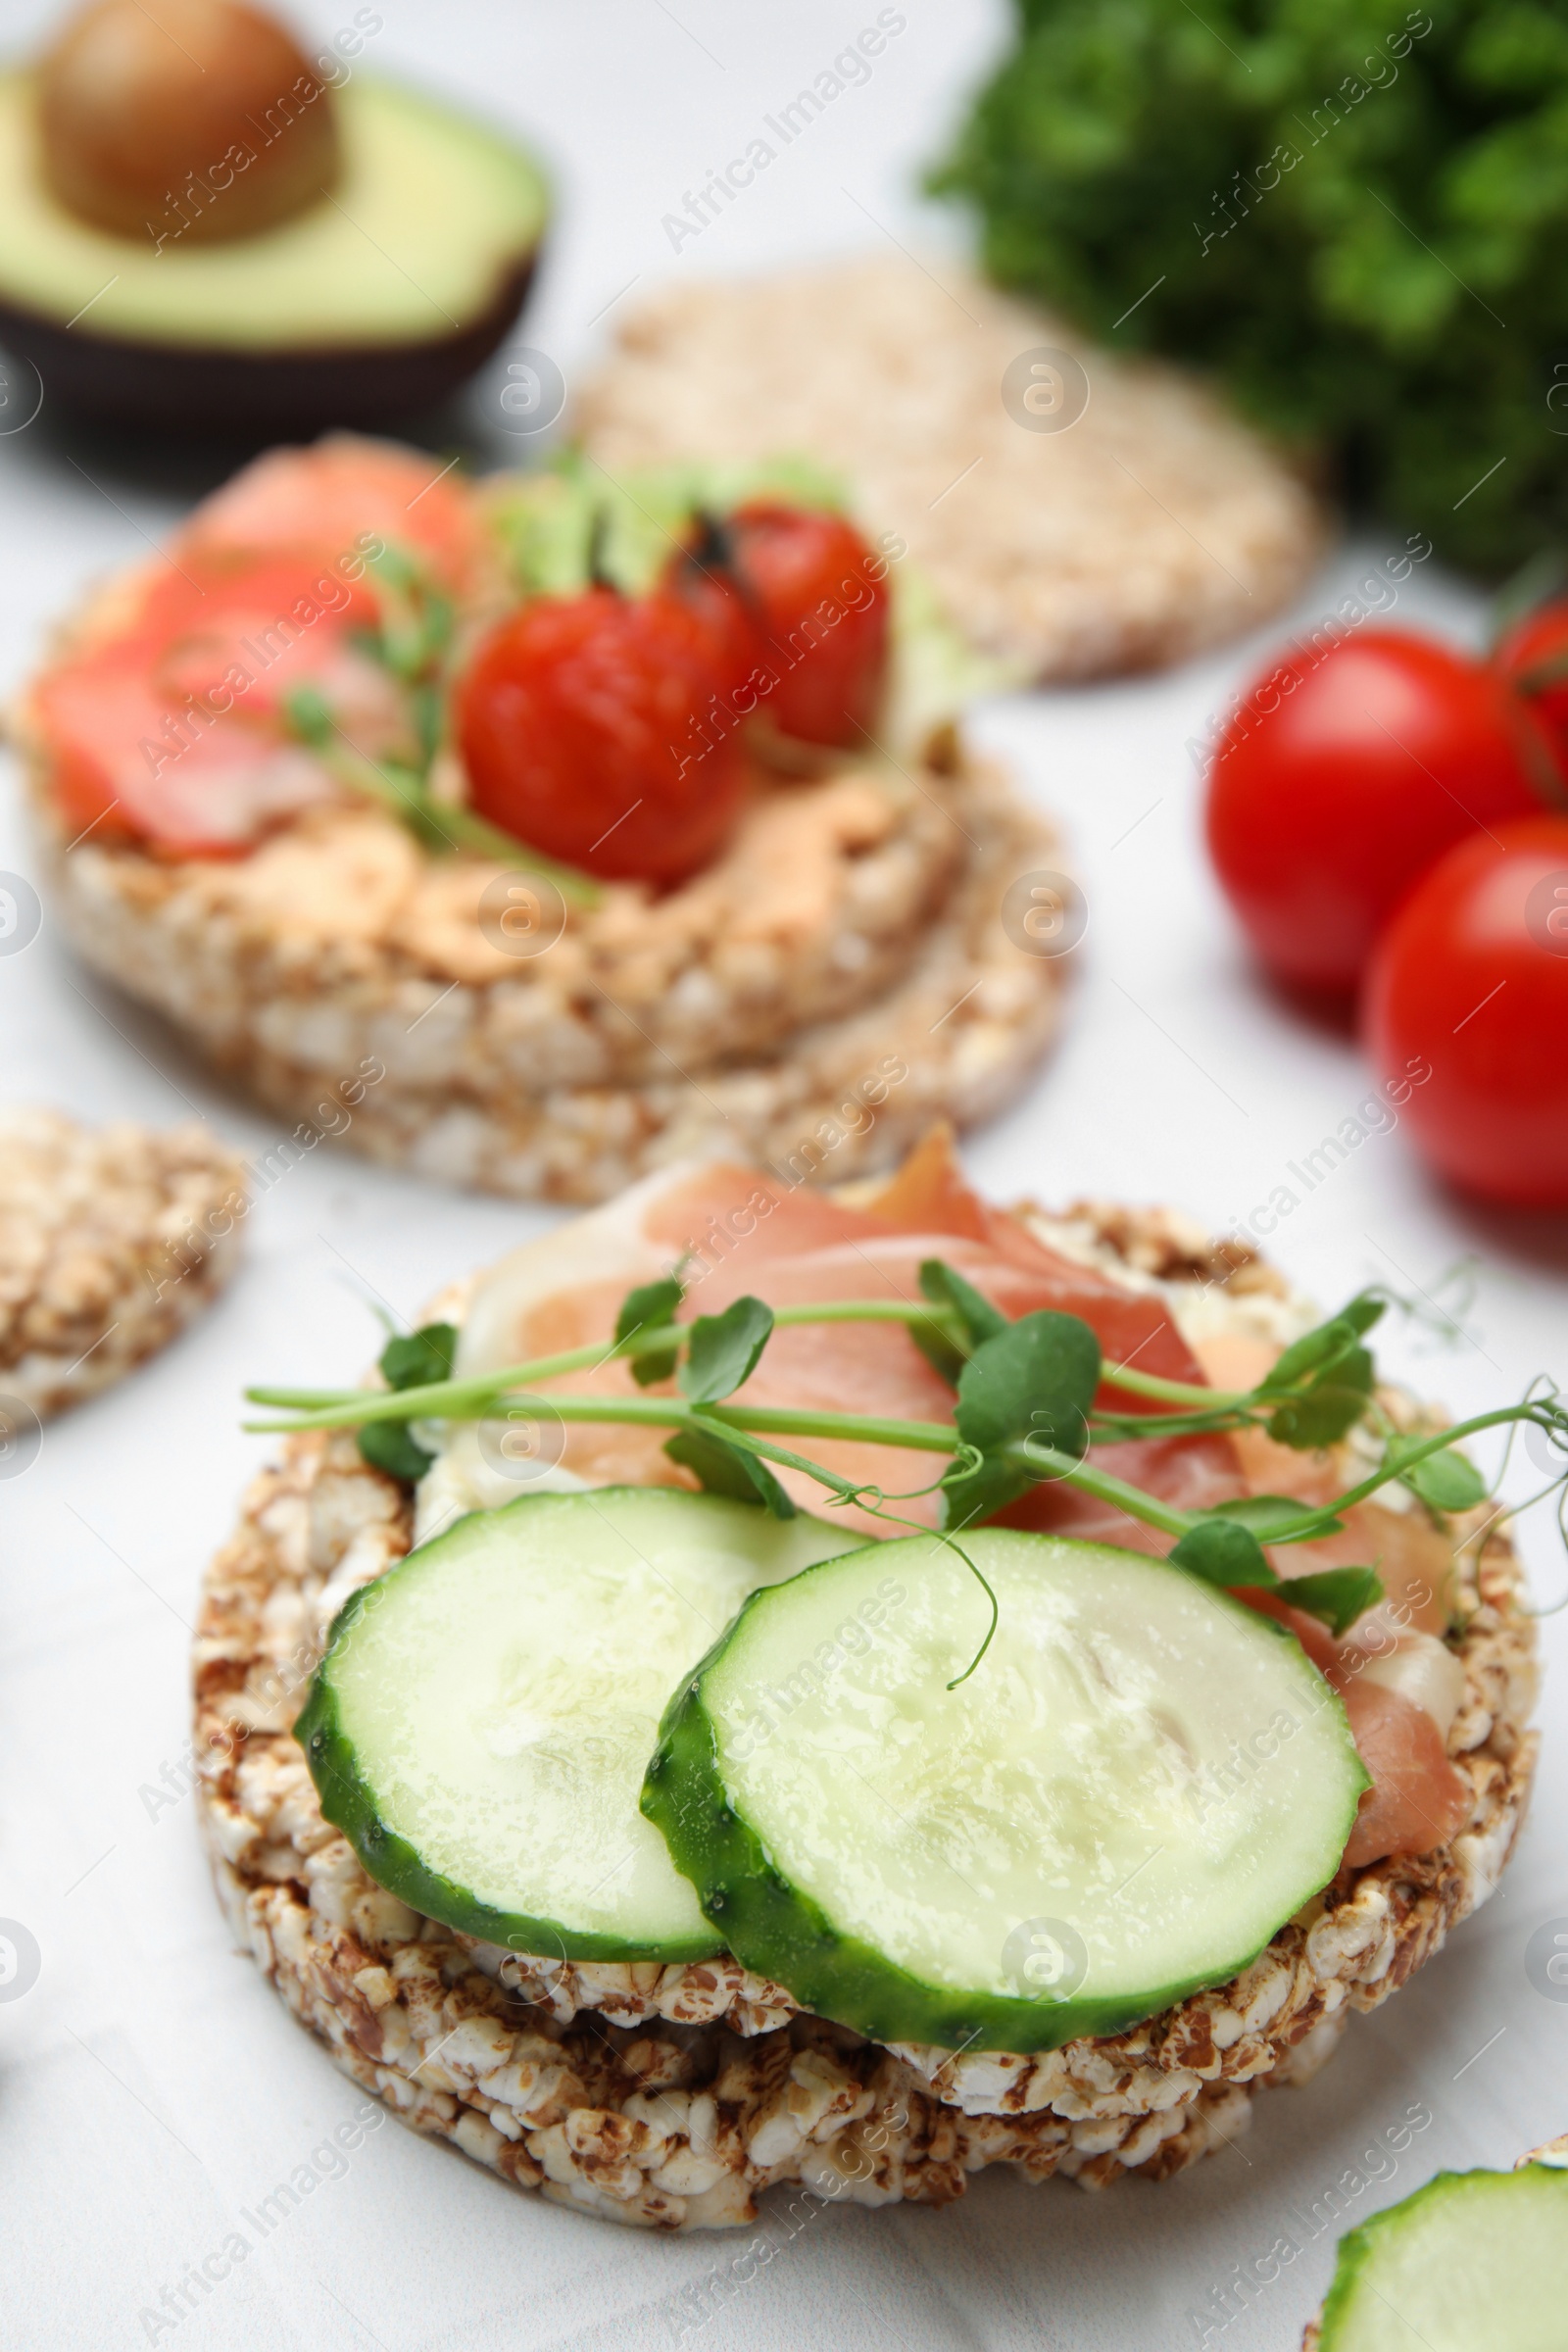
[[[762,708],[802,743],[863,743],[886,680],[886,564],[842,515],[769,499],[738,506],[724,539],[759,661],[778,680]]]

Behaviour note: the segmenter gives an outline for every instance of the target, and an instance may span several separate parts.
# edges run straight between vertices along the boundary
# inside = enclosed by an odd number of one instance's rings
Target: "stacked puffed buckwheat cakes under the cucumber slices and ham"
[[[1276,1348],[1309,1322],[1248,1249],[1185,1218],[1084,1204],[1034,1230],[1159,1296],[1194,1343]],[[461,1319],[468,1296],[454,1287],[440,1312]],[[1420,1423],[1408,1399],[1382,1402]],[[252,1486],[205,1585],[195,1693],[216,1884],[240,1945],[355,2082],[515,2185],[611,2220],[743,2225],[778,2183],[943,2204],[987,2164],[1084,2187],[1161,2180],[1229,2143],[1255,2089],[1305,2082],[1352,2011],[1403,1985],[1497,1884],[1535,1759],[1533,1625],[1497,1524],[1474,1510],[1453,1531],[1462,1696],[1446,1748],[1469,1783],[1462,1828],[1415,1860],[1345,1865],[1239,1978],[1128,2032],[966,2056],[867,2042],[733,1959],[529,1957],[376,1886],[322,1820],[289,1726],[336,1611],[409,1548],[411,1505],[348,1435],[303,1435]]]

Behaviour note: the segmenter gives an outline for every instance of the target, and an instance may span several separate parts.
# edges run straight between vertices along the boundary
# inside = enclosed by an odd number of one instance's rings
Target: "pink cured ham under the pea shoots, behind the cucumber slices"
[[[1037,1308],[1081,1315],[1100,1338],[1107,1362],[1135,1359],[1164,1378],[1204,1381],[1197,1357],[1154,1294],[1133,1291],[1112,1275],[1060,1256],[1018,1218],[987,1209],[957,1178],[945,1141],[938,1141],[936,1150],[922,1148],[903,1176],[867,1207],[849,1207],[823,1192],[790,1188],[757,1169],[726,1164],[677,1171],[639,1188],[628,1207],[632,1202],[635,1235],[621,1232],[614,1279],[545,1287],[508,1322],[503,1341],[491,1343],[489,1355],[496,1364],[609,1341],[630,1284],[646,1282],[675,1263],[684,1268],[682,1315],[689,1319],[715,1315],[748,1291],[773,1308],[832,1298],[914,1301],[922,1296],[919,1263],[936,1256],[1011,1317]],[[599,1211],[599,1216],[618,1214]],[[588,1263],[595,1263],[592,1254]],[[585,1395],[642,1395],[621,1362],[545,1385]],[[759,1406],[811,1404],[898,1421],[952,1421],[952,1390],[912,1341],[889,1324],[780,1329],[741,1397]],[[1126,1404],[1126,1397],[1117,1402]],[[912,1489],[931,1486],[940,1477],[945,1456],[816,1437],[780,1442],[795,1444],[797,1451],[811,1454],[856,1484],[879,1484],[903,1519],[919,1526],[936,1524],[936,1496]],[[1237,1494],[1279,1491],[1281,1465],[1274,1463],[1274,1454],[1284,1449],[1253,1454],[1253,1479],[1244,1477],[1237,1446],[1222,1435],[1095,1446],[1091,1458],[1182,1510],[1201,1510]],[[1288,1461],[1295,1463],[1300,1486],[1326,1486],[1328,1465],[1309,1456]],[[665,1456],[661,1430],[571,1425],[564,1465],[578,1477],[604,1484],[689,1482]],[[780,1470],[780,1477],[804,1508],[830,1508],[816,1479],[792,1470]],[[886,1519],[877,1522],[858,1510],[849,1517],[867,1534],[889,1534]],[[1157,1529],[1070,1486],[1037,1486],[1006,1517],[1009,1524],[1150,1552],[1168,1550],[1168,1538]],[[1279,1571],[1295,1576],[1349,1559],[1387,1559],[1392,1595],[1403,1595],[1415,1611],[1406,1623],[1420,1628],[1434,1606],[1441,1611],[1434,1602],[1434,1581],[1443,1583],[1441,1536],[1418,1515],[1378,1505],[1363,1505],[1352,1519],[1345,1536],[1279,1552]],[[1429,1851],[1455,1835],[1469,1811],[1469,1783],[1448,1762],[1432,1715],[1399,1691],[1363,1679],[1366,1653],[1356,1649],[1354,1632],[1352,1639],[1335,1642],[1316,1618],[1284,1609],[1272,1595],[1246,1597],[1267,1616],[1288,1623],[1345,1696],[1373,1776],[1347,1860],[1361,1865],[1382,1853]]]

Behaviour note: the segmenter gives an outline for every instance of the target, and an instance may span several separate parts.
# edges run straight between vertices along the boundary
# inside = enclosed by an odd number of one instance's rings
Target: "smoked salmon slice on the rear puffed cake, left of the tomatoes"
[[[301,687],[346,750],[409,760],[407,696],[367,652],[388,548],[447,590],[475,576],[473,499],[440,459],[336,435],[275,449],[207,499],[141,593],[33,687],[71,830],[223,856],[341,797],[289,722]]]

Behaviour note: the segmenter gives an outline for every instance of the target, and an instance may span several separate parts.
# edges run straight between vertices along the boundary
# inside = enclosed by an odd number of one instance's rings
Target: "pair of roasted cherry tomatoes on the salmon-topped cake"
[[[886,569],[842,515],[755,501],[693,529],[646,595],[522,604],[456,694],[473,807],[607,880],[684,882],[736,818],[750,717],[870,741]]]

